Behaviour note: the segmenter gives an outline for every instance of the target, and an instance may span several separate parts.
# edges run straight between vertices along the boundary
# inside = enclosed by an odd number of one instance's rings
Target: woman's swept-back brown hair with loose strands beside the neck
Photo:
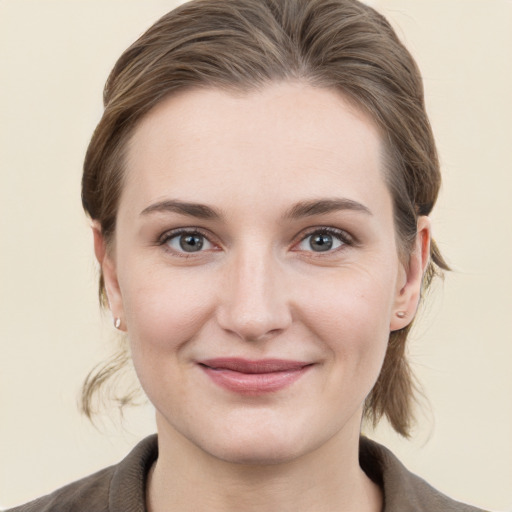
[[[386,19],[356,0],[194,0],[163,16],[130,46],[105,85],[105,110],[82,180],[84,209],[101,225],[107,245],[116,227],[124,153],[145,114],[180,89],[250,91],[283,80],[336,89],[380,128],[406,261],[417,218],[428,215],[437,199],[439,162],[416,63]],[[442,269],[448,266],[432,243],[424,290]],[[100,300],[107,304],[103,276]],[[410,432],[415,391],[405,353],[410,328],[390,334],[365,404],[367,420],[375,425],[386,416],[403,436]],[[82,408],[89,417],[94,394],[124,364],[115,357],[84,383]]]

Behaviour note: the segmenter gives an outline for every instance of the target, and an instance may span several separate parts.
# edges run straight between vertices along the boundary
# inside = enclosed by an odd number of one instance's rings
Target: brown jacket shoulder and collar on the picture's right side
[[[363,470],[384,489],[384,512],[484,512],[437,491],[374,441],[361,438],[359,457]]]

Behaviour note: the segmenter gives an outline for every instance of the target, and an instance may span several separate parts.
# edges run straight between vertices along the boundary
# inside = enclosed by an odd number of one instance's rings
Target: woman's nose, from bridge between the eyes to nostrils
[[[244,251],[224,274],[218,323],[244,341],[274,337],[292,321],[283,270],[270,252]]]

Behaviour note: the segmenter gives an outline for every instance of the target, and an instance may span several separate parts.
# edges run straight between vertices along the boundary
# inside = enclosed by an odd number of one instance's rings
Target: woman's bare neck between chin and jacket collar
[[[379,512],[382,494],[359,466],[359,432],[273,464],[226,462],[159,429],[148,511]]]

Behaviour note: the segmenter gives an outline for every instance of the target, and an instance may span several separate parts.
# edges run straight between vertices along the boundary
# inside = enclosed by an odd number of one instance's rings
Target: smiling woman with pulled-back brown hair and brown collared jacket
[[[371,8],[164,16],[109,77],[82,189],[158,440],[14,510],[476,510],[360,438],[409,434],[439,186],[419,72]]]

